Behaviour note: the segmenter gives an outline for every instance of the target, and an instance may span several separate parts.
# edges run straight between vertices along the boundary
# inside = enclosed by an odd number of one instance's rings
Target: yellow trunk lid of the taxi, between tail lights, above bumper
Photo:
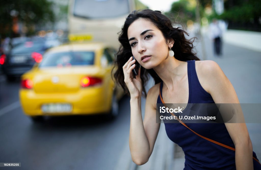
[[[103,78],[95,66],[39,69],[33,78],[35,93],[74,93],[83,88],[81,79],[83,77]]]

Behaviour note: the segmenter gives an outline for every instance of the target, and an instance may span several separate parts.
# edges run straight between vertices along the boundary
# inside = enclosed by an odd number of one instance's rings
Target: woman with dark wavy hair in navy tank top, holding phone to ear
[[[213,61],[199,61],[192,51],[193,42],[184,34],[187,33],[180,28],[173,28],[160,11],[143,10],[133,11],[127,17],[119,36],[121,48],[114,77],[131,96],[129,147],[137,165],[149,160],[158,135],[156,103],[239,103],[220,67]],[[135,62],[141,65],[137,76],[132,73]],[[146,94],[144,84],[148,74],[154,78],[155,85]],[[147,96],[144,120],[142,92]],[[253,169],[252,143],[245,124],[188,126],[200,135],[236,149],[209,142],[180,123],[165,123],[168,137],[185,153],[184,169]]]

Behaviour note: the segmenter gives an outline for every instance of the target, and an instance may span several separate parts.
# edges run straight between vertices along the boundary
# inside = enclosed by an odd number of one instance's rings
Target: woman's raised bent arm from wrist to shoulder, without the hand
[[[160,123],[156,123],[156,103],[158,84],[152,87],[146,99],[145,116],[142,121],[140,99],[131,98],[131,124],[129,135],[129,147],[132,160],[137,165],[143,165],[149,160],[152,153]],[[157,88],[158,89],[158,88]]]

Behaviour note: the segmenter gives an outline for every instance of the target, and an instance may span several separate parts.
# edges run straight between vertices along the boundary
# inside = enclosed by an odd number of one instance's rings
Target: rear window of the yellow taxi
[[[39,67],[50,66],[72,66],[72,65],[93,65],[94,52],[78,51],[78,52],[58,52],[46,53]]]

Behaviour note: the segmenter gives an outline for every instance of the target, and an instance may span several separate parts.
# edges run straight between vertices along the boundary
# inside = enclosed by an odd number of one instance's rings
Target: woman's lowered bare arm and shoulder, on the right
[[[196,63],[201,86],[211,94],[215,103],[239,103],[234,87],[216,62],[208,60]],[[253,148],[246,124],[225,125],[235,144],[236,169],[253,169]]]

